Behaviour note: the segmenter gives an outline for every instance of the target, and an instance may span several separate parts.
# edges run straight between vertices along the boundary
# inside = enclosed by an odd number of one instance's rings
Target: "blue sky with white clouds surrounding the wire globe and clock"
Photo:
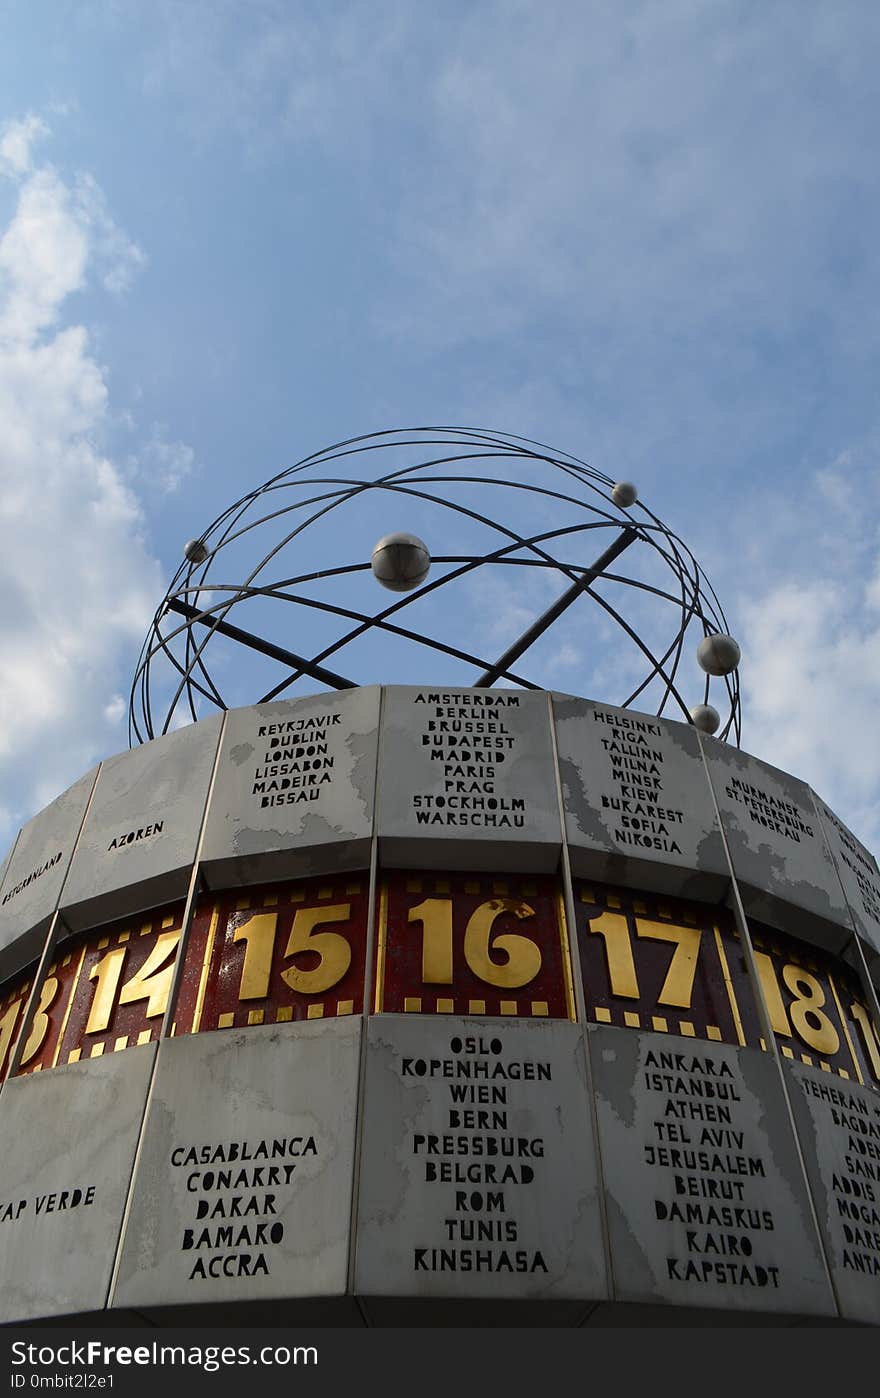
[[[877,850],[879,45],[863,0],[1,0],[0,843],[126,747],[186,538],[459,422],[638,484],[743,747]]]

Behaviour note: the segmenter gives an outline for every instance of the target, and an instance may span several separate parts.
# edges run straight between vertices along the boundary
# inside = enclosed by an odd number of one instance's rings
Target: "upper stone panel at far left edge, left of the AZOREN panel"
[[[92,768],[29,821],[0,891],[0,974],[39,956],[95,784]]]

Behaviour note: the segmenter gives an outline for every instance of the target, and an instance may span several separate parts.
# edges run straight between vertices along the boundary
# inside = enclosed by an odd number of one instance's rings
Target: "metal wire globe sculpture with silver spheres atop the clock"
[[[693,658],[726,633],[701,566],[631,482],[520,436],[378,432],[304,457],[186,544],[129,738],[281,695],[428,681],[599,693],[686,723],[712,686],[719,737],[739,745],[736,661],[704,674]]]

